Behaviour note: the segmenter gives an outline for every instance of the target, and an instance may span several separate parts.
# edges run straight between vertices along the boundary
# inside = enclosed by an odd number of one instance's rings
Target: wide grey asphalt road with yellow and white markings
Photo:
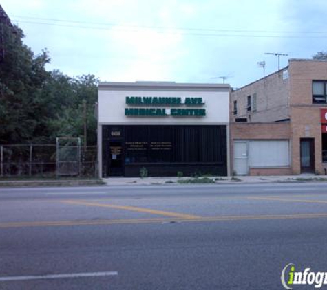
[[[0,188],[0,289],[283,289],[326,221],[327,183]]]

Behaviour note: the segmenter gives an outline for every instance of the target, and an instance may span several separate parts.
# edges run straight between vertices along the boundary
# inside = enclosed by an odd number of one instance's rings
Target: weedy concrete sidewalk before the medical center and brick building
[[[205,180],[203,180],[205,179]],[[211,179],[212,182],[205,182]],[[137,186],[179,183],[274,183],[274,182],[327,182],[326,175],[286,175],[286,176],[235,176],[235,177],[109,177],[103,178],[107,186]],[[204,181],[204,182],[201,182]]]

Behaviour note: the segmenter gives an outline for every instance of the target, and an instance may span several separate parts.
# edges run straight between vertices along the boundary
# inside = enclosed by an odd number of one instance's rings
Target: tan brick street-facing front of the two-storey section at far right
[[[327,80],[327,62],[290,60],[290,96],[293,173],[301,173],[300,138],[315,140],[315,172],[324,174],[321,156],[320,108],[327,104],[313,104],[313,80]]]

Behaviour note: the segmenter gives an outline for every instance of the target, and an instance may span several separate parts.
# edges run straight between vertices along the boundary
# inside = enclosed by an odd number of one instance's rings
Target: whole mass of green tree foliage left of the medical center
[[[51,142],[55,137],[83,137],[96,144],[95,103],[98,79],[71,78],[45,69],[48,51],[34,54],[23,44],[19,27],[3,25],[5,55],[0,60],[0,144]],[[83,100],[87,104],[86,120]]]

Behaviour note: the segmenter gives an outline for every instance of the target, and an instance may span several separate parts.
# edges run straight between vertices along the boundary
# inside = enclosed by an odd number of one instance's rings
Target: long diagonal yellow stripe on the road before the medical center
[[[129,210],[131,212],[146,212],[148,214],[158,214],[160,216],[171,216],[181,219],[198,219],[201,216],[194,216],[191,214],[180,214],[178,212],[165,212],[163,210],[151,210],[149,208],[138,208],[136,206],[127,206],[127,205],[112,205],[107,203],[89,203],[87,201],[61,201],[62,203],[68,203],[73,205],[86,205],[86,206],[96,206],[101,208],[115,208],[118,210]]]

